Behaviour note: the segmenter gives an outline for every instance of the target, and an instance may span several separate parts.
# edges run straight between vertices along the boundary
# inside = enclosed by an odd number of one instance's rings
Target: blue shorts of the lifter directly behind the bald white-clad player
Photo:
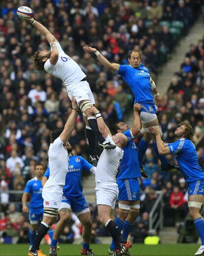
[[[118,201],[137,201],[140,197],[140,187],[137,178],[117,180]]]

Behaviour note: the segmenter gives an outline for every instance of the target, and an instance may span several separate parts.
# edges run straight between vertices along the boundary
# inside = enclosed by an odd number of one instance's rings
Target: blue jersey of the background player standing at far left
[[[30,208],[43,208],[42,182],[36,177],[29,180],[24,189],[24,193],[31,194]]]

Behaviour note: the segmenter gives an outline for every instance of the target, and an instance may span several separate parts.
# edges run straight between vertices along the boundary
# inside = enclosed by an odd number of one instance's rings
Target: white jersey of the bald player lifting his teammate
[[[108,135],[105,139],[111,144],[115,145],[111,137]],[[112,150],[103,150],[96,169],[95,180],[96,185],[102,183],[116,182],[116,175],[118,173],[118,167],[120,160],[123,157],[123,150],[116,147]]]

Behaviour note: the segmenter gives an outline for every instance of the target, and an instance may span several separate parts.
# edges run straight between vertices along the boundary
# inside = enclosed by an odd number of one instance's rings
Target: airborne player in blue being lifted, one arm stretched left
[[[149,142],[153,141],[153,148],[161,161],[161,169],[164,171],[176,172],[179,170],[177,166],[171,165],[164,155],[160,155],[157,150],[156,139],[153,134],[150,134],[148,127],[158,126],[159,122],[156,115],[155,104],[161,105],[162,101],[154,81],[151,79],[149,69],[140,62],[140,53],[133,50],[128,55],[130,65],[120,65],[110,63],[97,49],[92,47],[84,47],[85,51],[93,52],[97,55],[98,60],[104,67],[109,70],[118,72],[123,77],[123,80],[128,84],[135,96],[135,103],[141,104],[140,120],[142,122],[143,138],[138,144],[138,160],[141,166],[142,159],[148,148]]]

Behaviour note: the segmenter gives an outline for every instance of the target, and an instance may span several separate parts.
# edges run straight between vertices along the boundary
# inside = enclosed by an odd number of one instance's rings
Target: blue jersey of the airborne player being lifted
[[[149,69],[146,66],[142,63],[137,68],[131,65],[120,65],[118,74],[130,87],[135,96],[135,102],[154,105]]]

